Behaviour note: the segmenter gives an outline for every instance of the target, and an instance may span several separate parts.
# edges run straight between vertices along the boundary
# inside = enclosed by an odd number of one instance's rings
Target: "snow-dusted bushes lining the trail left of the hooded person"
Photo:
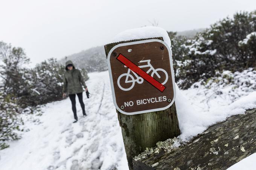
[[[18,114],[33,114],[42,104],[62,99],[65,66],[48,59],[29,68],[30,59],[20,47],[0,42],[0,149],[16,140],[23,121]],[[85,80],[87,71],[81,70]]]

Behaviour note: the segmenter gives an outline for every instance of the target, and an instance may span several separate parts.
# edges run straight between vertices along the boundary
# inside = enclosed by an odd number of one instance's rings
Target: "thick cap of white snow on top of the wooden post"
[[[144,39],[144,38],[154,38],[154,37],[163,37],[163,41],[169,47],[171,47],[171,40],[166,30],[160,27],[153,27],[153,26],[125,30],[117,34],[112,40],[112,42],[129,41],[133,39]]]

